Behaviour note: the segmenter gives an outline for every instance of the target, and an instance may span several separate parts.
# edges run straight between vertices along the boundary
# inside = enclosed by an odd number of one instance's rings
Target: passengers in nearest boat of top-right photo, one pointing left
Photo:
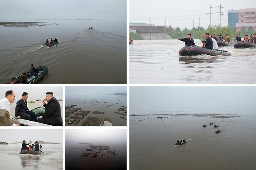
[[[206,40],[202,41],[203,44],[202,44],[201,47],[203,47],[205,49],[210,49],[210,50],[212,50],[212,49],[216,49],[216,50],[219,49],[214,34],[210,35],[209,33],[205,33],[205,38],[206,38]],[[193,38],[191,38],[191,34],[190,33],[187,35],[187,38],[179,38],[178,40],[181,40],[181,41],[185,42],[186,46],[191,46],[191,45],[192,46],[196,46]]]

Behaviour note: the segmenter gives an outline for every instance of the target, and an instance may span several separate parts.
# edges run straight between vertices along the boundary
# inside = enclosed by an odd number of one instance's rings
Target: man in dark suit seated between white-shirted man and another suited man
[[[15,116],[17,118],[35,121],[35,112],[28,109],[28,93],[23,92],[22,99],[16,103]]]

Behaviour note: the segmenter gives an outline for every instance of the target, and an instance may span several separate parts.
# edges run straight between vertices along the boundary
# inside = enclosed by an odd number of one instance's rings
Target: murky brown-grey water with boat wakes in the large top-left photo
[[[29,71],[32,63],[48,68],[39,83],[126,83],[125,20],[39,21],[46,25],[0,26],[0,83]],[[59,43],[44,46],[51,37]]]

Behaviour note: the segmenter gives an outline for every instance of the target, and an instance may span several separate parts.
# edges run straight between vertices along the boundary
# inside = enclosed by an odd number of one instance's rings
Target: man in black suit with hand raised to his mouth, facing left
[[[46,104],[46,101],[48,102]],[[43,101],[43,106],[46,108],[44,115],[39,117],[39,123],[47,125],[62,126],[62,118],[60,113],[60,103],[53,97],[53,92],[46,93],[46,99]]]

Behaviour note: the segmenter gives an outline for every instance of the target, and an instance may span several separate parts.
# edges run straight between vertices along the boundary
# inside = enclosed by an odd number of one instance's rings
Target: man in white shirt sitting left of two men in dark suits
[[[8,90],[7,92],[5,92],[4,99],[0,100],[0,109],[5,109],[9,113],[11,113],[11,103],[13,103],[14,101],[15,101],[14,92],[12,90]],[[10,119],[12,119],[11,116],[10,116]],[[19,126],[19,121],[14,120],[14,123],[12,124],[12,126]]]

